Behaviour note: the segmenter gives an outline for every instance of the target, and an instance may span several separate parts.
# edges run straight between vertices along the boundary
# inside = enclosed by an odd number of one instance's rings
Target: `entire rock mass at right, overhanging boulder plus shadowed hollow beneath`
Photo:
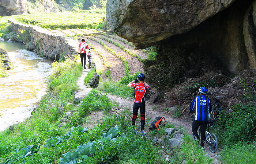
[[[109,0],[107,21],[136,48],[177,47],[184,58],[203,55],[237,73],[256,67],[255,1]]]

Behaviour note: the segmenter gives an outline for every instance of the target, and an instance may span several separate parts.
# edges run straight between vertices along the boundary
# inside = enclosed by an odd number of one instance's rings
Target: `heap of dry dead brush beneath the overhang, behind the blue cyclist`
[[[213,101],[214,98],[220,100],[220,106],[230,109],[231,106],[238,103],[244,104],[247,102],[246,99],[241,98],[245,94],[255,94],[256,87],[256,69],[248,69],[241,71],[233,79],[229,79],[225,75],[219,72],[208,72],[200,77],[187,78],[185,82],[180,85],[176,85],[173,89],[165,94],[165,101],[167,104],[181,105],[182,113],[185,118],[192,118],[189,113],[189,105],[196,95],[198,95],[198,88],[191,87],[195,83],[202,81],[215,81],[216,83],[226,83],[222,87],[209,87],[208,97]]]

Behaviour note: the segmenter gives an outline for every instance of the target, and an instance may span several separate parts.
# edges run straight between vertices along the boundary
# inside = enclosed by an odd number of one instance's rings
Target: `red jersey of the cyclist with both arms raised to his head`
[[[145,102],[146,92],[150,90],[150,87],[144,85],[144,83],[132,83],[132,88],[135,94],[134,102]]]

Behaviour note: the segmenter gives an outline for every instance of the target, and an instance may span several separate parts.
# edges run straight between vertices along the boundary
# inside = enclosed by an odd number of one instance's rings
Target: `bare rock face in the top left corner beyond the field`
[[[27,13],[26,0],[0,0],[0,16]]]

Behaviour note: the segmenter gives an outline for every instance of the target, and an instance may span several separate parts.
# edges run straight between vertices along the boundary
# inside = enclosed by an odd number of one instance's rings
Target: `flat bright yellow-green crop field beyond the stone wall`
[[[14,18],[25,24],[37,25],[42,28],[50,28],[54,30],[57,28],[95,28],[100,23],[103,23],[102,17],[105,15],[106,13],[96,13],[84,10],[80,12],[25,14],[17,15]]]

